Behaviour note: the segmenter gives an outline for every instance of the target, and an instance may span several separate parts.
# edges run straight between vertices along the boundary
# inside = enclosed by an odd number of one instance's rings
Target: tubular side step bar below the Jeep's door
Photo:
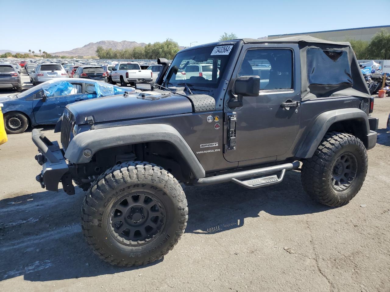
[[[238,183],[239,185],[245,186],[247,188],[259,188],[260,186],[268,186],[268,185],[275,185],[276,183],[280,183],[283,178],[284,174],[288,170],[297,169],[300,166],[299,161],[294,161],[292,163],[286,163],[286,164],[280,164],[280,165],[274,165],[269,167],[263,167],[263,168],[257,168],[257,169],[251,169],[247,171],[239,171],[239,172],[233,172],[233,173],[227,173],[227,174],[221,174],[219,176],[210,176],[208,178],[199,178],[193,181],[193,185],[195,186],[204,186],[204,185],[213,185],[216,183],[226,183],[228,181],[233,181],[235,183]],[[279,178],[276,176],[270,176],[267,178],[261,178],[258,179],[261,183],[255,183],[256,179],[251,179],[249,181],[240,181],[240,179],[245,178],[253,178],[257,176],[262,176],[265,174],[273,174],[275,172],[282,171],[282,174]],[[263,180],[264,179],[264,180]]]

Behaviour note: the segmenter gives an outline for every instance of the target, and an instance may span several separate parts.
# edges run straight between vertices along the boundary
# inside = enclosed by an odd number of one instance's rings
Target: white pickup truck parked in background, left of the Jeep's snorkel
[[[153,81],[152,70],[141,70],[138,63],[135,62],[120,62],[112,69],[109,81],[112,84],[121,83],[121,86],[127,86],[135,82],[151,82]]]

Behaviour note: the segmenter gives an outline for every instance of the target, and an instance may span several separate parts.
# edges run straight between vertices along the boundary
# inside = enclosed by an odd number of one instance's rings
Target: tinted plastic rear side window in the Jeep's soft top
[[[353,85],[346,51],[307,49],[307,75],[310,85]]]

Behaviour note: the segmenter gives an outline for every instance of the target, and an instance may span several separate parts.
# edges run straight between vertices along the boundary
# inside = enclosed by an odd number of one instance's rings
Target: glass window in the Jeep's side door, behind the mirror
[[[293,89],[293,52],[289,49],[250,49],[238,76],[259,76],[260,90]]]

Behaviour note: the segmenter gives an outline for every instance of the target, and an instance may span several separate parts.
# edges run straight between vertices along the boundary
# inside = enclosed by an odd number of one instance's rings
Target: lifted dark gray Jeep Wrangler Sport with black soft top
[[[132,266],[172,250],[188,219],[184,185],[260,188],[301,169],[328,206],[362,187],[378,119],[349,43],[238,39],[158,63],[156,83],[135,94],[68,105],[62,148],[32,132],[42,187],[73,195],[73,179],[87,191],[82,229],[102,259]]]

